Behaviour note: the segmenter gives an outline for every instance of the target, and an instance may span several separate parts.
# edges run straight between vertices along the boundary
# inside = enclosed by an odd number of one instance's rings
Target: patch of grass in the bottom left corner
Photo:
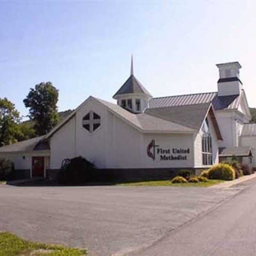
[[[32,243],[7,232],[0,232],[0,256],[81,256],[86,250],[62,245]]]

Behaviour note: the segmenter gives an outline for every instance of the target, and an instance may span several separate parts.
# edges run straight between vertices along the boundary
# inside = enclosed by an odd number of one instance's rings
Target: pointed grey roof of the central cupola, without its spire
[[[125,83],[116,92],[113,98],[116,99],[115,97],[117,95],[129,94],[129,93],[143,93],[152,97],[152,95],[148,92],[148,90],[139,82],[139,80],[134,75],[131,75],[125,81]]]

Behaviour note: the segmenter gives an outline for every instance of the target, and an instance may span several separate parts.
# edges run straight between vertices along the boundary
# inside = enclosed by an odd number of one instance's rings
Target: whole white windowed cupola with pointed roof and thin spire
[[[121,88],[113,96],[117,105],[133,112],[141,113],[148,108],[148,102],[152,95],[139,82],[133,74],[133,58],[131,60],[131,74]]]

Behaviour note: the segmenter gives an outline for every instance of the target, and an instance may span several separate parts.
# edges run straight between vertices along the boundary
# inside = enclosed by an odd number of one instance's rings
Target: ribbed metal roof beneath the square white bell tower
[[[212,102],[215,110],[224,108],[236,109],[239,106],[241,95],[218,96],[218,92],[205,92],[152,98],[149,101],[149,108],[176,107]]]

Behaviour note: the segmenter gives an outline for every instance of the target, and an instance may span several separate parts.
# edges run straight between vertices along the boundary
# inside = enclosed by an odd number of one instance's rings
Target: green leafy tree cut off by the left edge
[[[20,133],[20,113],[7,98],[0,98],[0,146],[16,142]]]

